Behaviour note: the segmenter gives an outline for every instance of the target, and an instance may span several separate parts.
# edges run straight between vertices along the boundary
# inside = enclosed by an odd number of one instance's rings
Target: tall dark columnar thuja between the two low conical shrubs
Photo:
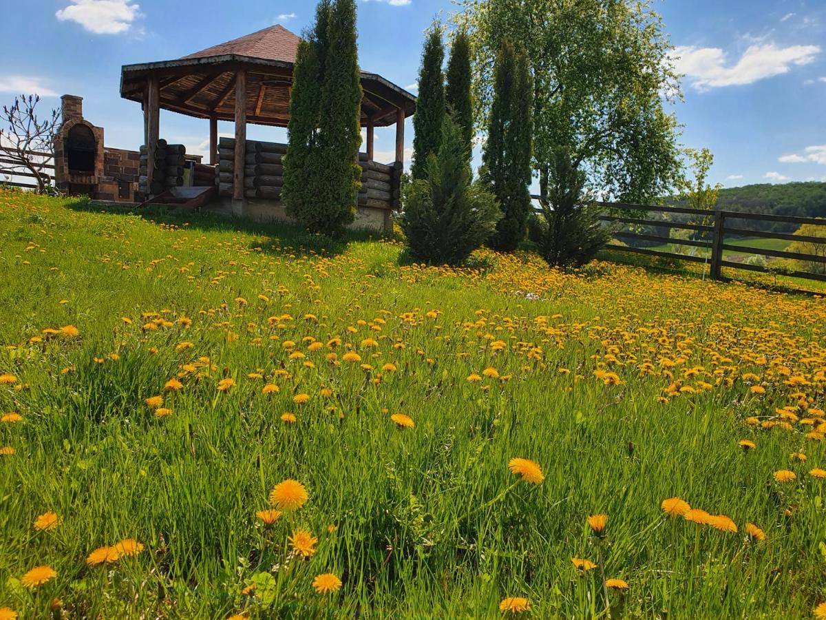
[[[482,176],[502,211],[488,244],[515,250],[525,238],[531,181],[531,85],[525,50],[502,41],[494,69],[494,92],[487,142],[482,152]]]

